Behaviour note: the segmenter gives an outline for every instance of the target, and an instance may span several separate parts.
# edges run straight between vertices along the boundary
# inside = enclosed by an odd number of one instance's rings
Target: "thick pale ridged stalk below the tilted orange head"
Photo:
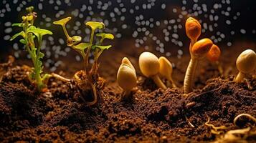
[[[190,59],[189,66],[186,69],[185,79],[184,79],[184,93],[187,94],[192,91],[192,85],[194,82],[194,72],[196,70],[197,59]]]

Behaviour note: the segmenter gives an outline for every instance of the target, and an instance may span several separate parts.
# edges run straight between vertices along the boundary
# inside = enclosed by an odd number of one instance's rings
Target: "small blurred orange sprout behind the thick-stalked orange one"
[[[213,44],[211,49],[207,53],[207,59],[215,64],[217,64],[219,74],[223,74],[222,66],[219,64],[219,56],[221,54],[221,51],[219,49],[219,46]]]

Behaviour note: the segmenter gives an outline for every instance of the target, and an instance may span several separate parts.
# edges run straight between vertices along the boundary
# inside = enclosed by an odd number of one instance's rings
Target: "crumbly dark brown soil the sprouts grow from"
[[[172,58],[174,80],[180,88],[163,90],[138,70],[142,51],[116,49],[103,55],[100,75],[105,80],[100,85],[105,86],[98,86],[100,101],[93,107],[83,102],[73,80],[51,78],[49,91],[39,94],[27,77],[29,66],[9,66],[0,83],[0,142],[224,142],[225,132],[246,127],[254,134],[238,136],[235,141],[256,142],[255,122],[241,117],[233,124],[238,114],[256,117],[256,79],[248,78],[246,84],[233,82],[237,71],[230,61],[242,49],[235,54],[223,52],[226,57],[232,55],[222,59],[224,76],[214,64],[202,62],[194,92],[187,95],[181,87],[188,55]],[[105,58],[109,55],[115,57]],[[120,99],[122,90],[115,83],[123,56],[131,59],[138,72],[138,87],[126,102]],[[72,77],[70,72],[59,74]],[[209,124],[226,128],[214,133],[205,124],[208,119]]]

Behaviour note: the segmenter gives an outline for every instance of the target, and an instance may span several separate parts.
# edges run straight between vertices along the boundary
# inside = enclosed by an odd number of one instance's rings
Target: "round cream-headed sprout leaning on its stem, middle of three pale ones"
[[[143,52],[138,58],[138,64],[144,76],[153,79],[153,82],[155,82],[158,87],[166,89],[166,85],[163,84],[158,77],[160,64],[158,58],[154,54],[148,51]]]

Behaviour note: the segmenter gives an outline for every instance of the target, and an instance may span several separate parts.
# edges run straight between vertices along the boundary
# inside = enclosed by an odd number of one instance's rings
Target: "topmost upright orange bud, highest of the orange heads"
[[[192,41],[196,41],[201,35],[201,24],[193,17],[189,17],[189,19],[186,19],[185,27],[186,36],[188,36],[189,39],[191,39]]]

